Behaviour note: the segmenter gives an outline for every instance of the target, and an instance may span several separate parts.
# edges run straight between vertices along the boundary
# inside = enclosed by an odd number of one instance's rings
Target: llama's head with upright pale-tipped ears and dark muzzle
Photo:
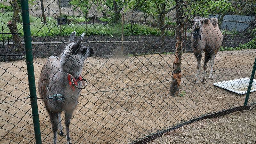
[[[84,33],[75,41],[76,37],[76,31],[74,31],[70,36],[69,36],[69,41],[68,41],[68,47],[70,49],[70,52],[72,54],[78,54],[82,58],[86,59],[88,57],[92,57],[94,54],[92,48],[88,48],[84,45],[81,45],[82,40],[84,39]]]

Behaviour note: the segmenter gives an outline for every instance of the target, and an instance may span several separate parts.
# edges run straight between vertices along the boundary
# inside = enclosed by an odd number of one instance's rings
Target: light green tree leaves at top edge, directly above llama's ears
[[[87,13],[92,6],[92,4],[89,3],[89,0],[71,0],[69,3],[75,8],[80,7],[85,16],[87,16]]]

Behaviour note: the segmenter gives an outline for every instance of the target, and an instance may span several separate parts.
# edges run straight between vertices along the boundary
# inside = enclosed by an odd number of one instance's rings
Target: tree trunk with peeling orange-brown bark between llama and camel
[[[173,72],[172,72],[172,83],[170,87],[169,95],[178,96],[180,90],[180,81],[181,81],[181,56],[182,56],[182,29],[183,29],[183,0],[176,1],[176,51],[175,59],[173,61]]]

